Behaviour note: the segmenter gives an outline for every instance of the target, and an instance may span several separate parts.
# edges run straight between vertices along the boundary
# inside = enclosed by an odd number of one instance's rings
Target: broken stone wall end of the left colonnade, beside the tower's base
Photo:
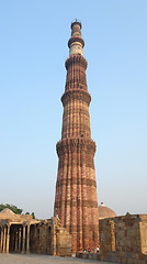
[[[71,234],[61,227],[59,219],[43,220],[31,227],[30,252],[71,256]]]

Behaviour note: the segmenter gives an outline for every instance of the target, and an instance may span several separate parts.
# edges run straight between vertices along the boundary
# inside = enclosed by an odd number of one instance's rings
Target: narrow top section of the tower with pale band
[[[76,20],[71,23],[71,37],[68,41],[69,56],[72,54],[80,54],[83,56],[83,46],[84,41],[81,37],[81,23]]]

